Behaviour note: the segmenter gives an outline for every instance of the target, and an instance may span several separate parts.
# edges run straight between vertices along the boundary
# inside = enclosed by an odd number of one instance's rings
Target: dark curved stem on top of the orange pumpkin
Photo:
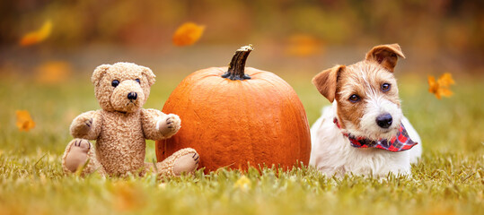
[[[251,79],[251,76],[244,73],[245,61],[247,56],[251,53],[254,48],[252,44],[249,46],[241,47],[235,51],[232,57],[232,61],[229,64],[229,69],[226,73],[222,74],[223,78],[228,78],[230,80],[246,80]]]

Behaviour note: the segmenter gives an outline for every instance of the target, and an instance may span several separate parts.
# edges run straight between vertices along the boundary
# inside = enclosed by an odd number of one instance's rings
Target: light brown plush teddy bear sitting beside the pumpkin
[[[180,130],[180,117],[156,109],[141,108],[154,84],[154,73],[131,63],[102,64],[92,73],[96,98],[102,109],[75,117],[69,142],[62,157],[67,173],[84,166],[82,175],[144,175],[155,171],[162,176],[178,176],[198,167],[198,153],[179,150],[158,163],[145,163],[145,139],[162,140]],[[94,147],[88,140],[96,140]],[[155,166],[155,167],[154,167]]]

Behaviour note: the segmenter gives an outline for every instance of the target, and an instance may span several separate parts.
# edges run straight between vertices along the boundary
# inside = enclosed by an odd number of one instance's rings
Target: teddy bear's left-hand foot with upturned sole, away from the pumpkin
[[[91,150],[91,142],[83,139],[72,141],[71,149],[66,156],[66,168],[71,172],[75,172],[77,168],[82,167],[87,160],[87,152],[89,150]]]

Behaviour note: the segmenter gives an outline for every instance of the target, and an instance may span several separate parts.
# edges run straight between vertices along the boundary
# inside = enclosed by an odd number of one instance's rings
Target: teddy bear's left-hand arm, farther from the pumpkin
[[[88,111],[75,117],[70,128],[71,134],[74,138],[96,140],[101,133],[101,124],[101,111]]]

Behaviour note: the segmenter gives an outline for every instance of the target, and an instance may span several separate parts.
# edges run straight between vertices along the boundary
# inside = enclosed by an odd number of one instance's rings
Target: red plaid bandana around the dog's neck
[[[341,128],[338,123],[338,119],[335,117],[333,120],[334,124]],[[413,142],[410,140],[409,133],[405,130],[403,124],[400,124],[399,132],[396,136],[392,137],[390,141],[386,139],[379,139],[377,141],[366,139],[365,137],[356,137],[351,135],[351,133],[343,133],[347,136],[351,146],[355,148],[376,148],[382,150],[390,150],[393,152],[401,150],[409,150],[418,142]]]

